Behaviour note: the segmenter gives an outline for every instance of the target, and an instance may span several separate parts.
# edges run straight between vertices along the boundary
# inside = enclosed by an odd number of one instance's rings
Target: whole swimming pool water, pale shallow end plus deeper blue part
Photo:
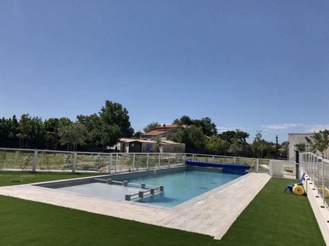
[[[156,187],[163,185],[164,192],[143,197],[136,202],[173,207],[240,176],[242,175],[223,173],[219,169],[185,167],[167,171],[162,169],[141,172],[140,174],[120,174],[108,176],[108,178],[116,181],[127,180],[137,184],[146,183]],[[82,184],[57,185],[52,188],[80,193],[88,197],[103,197],[117,201],[125,200],[125,194],[138,193],[141,190],[136,187],[95,182],[95,180]]]

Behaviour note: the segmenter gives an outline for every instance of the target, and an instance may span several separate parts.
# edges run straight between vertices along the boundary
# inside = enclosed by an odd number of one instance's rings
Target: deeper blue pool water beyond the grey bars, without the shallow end
[[[186,170],[165,174],[155,172],[153,175],[130,178],[128,181],[164,185],[164,193],[145,197],[138,202],[173,207],[240,176],[241,174],[226,174],[220,171]]]

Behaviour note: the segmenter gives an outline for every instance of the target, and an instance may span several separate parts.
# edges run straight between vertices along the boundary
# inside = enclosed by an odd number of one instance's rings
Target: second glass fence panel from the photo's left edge
[[[37,170],[72,171],[73,152],[38,152]]]

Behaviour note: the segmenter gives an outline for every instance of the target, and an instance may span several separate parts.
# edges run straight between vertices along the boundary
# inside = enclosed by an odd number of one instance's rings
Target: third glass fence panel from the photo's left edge
[[[93,153],[81,154],[77,153],[77,171],[94,171],[108,172],[108,163],[110,162],[110,154]]]

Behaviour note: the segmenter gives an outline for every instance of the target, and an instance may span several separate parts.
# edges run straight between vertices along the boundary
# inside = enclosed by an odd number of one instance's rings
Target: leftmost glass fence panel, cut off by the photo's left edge
[[[0,169],[32,170],[34,150],[0,150]]]

